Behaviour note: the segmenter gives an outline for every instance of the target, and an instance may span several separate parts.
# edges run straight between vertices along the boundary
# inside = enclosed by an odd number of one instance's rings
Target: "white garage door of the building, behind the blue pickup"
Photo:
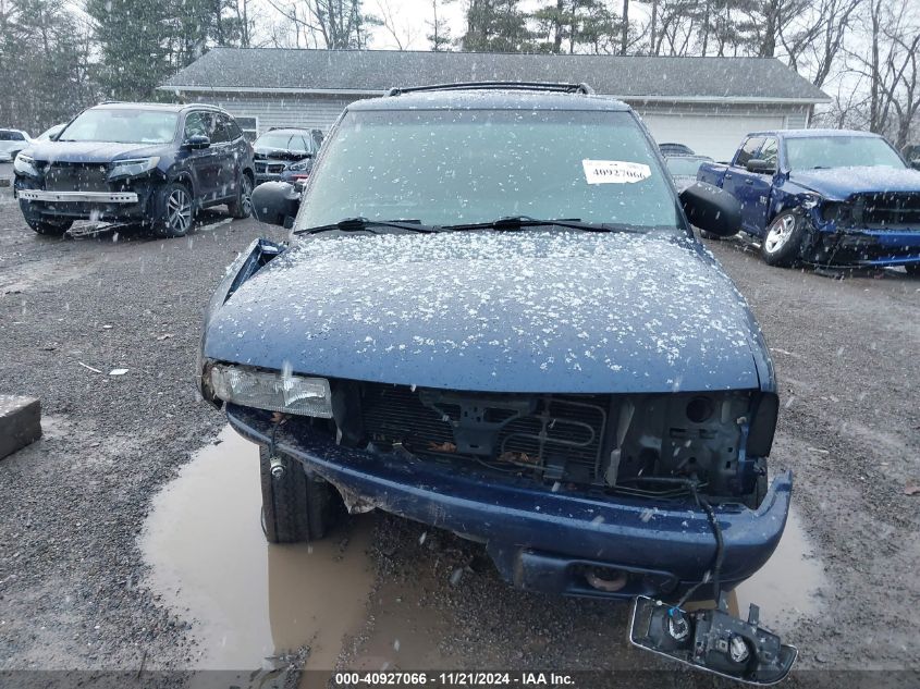
[[[642,120],[659,144],[686,144],[702,156],[731,160],[738,144],[750,132],[782,130],[783,115],[678,115],[645,114]]]

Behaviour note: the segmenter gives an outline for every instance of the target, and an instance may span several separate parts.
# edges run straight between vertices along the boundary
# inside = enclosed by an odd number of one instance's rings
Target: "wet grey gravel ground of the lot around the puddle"
[[[40,397],[45,415],[45,438],[0,460],[0,669],[189,666],[195,620],[144,587],[136,538],[150,495],[224,425],[196,401],[199,319],[267,231],[224,220],[208,213],[183,239],[48,239],[0,194],[0,392]],[[796,472],[826,574],[822,617],[800,616],[790,639],[800,667],[916,667],[920,496],[905,491],[920,483],[920,281],[834,280],[712,248],[773,348],[772,466]],[[348,666],[392,643],[392,624],[441,667],[670,667],[627,647],[625,606],[512,590],[476,545],[385,516],[372,528],[377,581]],[[400,623],[398,610],[417,615]]]

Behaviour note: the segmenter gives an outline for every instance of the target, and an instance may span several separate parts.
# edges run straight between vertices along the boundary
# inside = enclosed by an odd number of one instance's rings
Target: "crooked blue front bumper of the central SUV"
[[[245,438],[297,459],[359,507],[378,507],[486,544],[517,587],[568,595],[676,600],[708,577],[716,552],[707,514],[689,497],[609,495],[527,478],[496,477],[475,465],[422,462],[400,447],[360,450],[304,417],[228,404]],[[724,539],[723,590],[750,577],[785,527],[792,475],[780,475],[757,509],[714,507]],[[695,600],[711,599],[702,583]]]

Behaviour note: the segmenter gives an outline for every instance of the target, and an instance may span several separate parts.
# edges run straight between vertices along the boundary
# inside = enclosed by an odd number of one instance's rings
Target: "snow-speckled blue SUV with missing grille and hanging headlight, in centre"
[[[318,538],[341,495],[484,542],[528,589],[712,596],[716,552],[726,589],[766,562],[792,488],[766,481],[773,367],[687,220],[739,209],[678,197],[628,106],[358,101],[299,201],[256,187],[292,242],[241,255],[200,352],[204,397],[262,446],[269,540]]]

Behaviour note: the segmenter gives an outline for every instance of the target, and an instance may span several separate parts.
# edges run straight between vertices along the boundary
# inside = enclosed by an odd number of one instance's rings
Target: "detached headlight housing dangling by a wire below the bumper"
[[[729,679],[772,685],[789,674],[798,651],[760,627],[751,604],[744,622],[728,612],[722,592],[715,608],[686,612],[640,595],[633,608],[629,641],[647,651]]]

